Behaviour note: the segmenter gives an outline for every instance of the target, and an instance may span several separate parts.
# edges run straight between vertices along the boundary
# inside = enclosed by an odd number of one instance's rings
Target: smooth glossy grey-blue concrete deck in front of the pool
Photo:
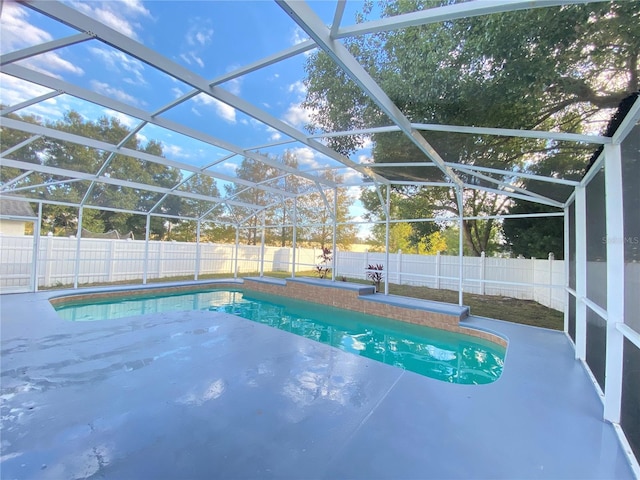
[[[469,317],[504,371],[455,385],[218,312],[67,322],[61,293],[0,297],[2,478],[633,478],[562,332]]]

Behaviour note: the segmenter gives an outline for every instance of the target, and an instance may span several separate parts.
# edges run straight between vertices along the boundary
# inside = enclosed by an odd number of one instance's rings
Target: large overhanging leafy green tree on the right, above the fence
[[[382,17],[440,3],[379,2]],[[638,90],[639,7],[640,2],[629,1],[530,9],[367,35],[345,45],[412,122],[580,133],[584,125],[597,121],[602,109],[615,108]],[[365,4],[361,19],[370,11],[371,4]],[[311,55],[306,71],[305,106],[314,112],[312,131],[390,123],[326,53]],[[423,136],[445,161],[504,170],[536,171],[541,162],[562,155],[584,168],[591,153],[588,145],[555,141],[438,132]],[[328,139],[346,154],[365,140],[363,135]],[[400,133],[376,134],[373,140],[376,163],[425,158]],[[444,180],[436,168],[385,168],[381,173],[396,180]],[[458,175],[465,183],[496,188],[490,179]],[[401,194],[395,201],[409,206],[420,197],[429,205],[425,214],[460,213],[452,189],[396,190]],[[405,196],[407,190],[411,194]],[[491,192],[464,194],[465,215],[491,216],[507,212],[510,206]],[[473,254],[489,249],[495,228],[489,219],[465,220],[465,243]]]

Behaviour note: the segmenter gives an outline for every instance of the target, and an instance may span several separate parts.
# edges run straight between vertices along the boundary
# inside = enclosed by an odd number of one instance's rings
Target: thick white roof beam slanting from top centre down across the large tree
[[[444,164],[438,152],[427,142],[420,133],[411,127],[411,123],[391,101],[389,96],[371,78],[362,65],[351,55],[349,50],[340,42],[331,38],[330,30],[322,20],[305,3],[290,0],[277,0],[278,5],[309,35],[327,55],[371,98],[376,105],[400,127],[402,132],[456,185],[463,182],[456,173]],[[388,183],[383,180],[381,183]]]

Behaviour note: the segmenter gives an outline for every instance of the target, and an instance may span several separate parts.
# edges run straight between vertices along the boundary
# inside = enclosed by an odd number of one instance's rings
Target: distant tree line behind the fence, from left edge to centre
[[[34,116],[12,117],[25,122],[43,124],[47,127],[100,140],[112,145],[119,144],[123,139],[128,140],[122,145],[125,148],[163,157],[162,144],[150,140],[143,144],[136,135],[122,125],[116,118],[101,117],[97,121],[86,120],[75,111],[67,112],[60,120],[43,122]],[[1,127],[0,148],[18,145],[31,137],[30,134]],[[216,179],[212,175],[183,172],[178,168],[164,165],[161,162],[140,160],[127,155],[104,152],[95,148],[70,143],[58,139],[41,137],[13,152],[11,158],[27,163],[42,164],[71,172],[77,171],[89,174],[100,173],[103,177],[132,181],[143,185],[159,186],[166,189],[177,188],[181,191],[192,192],[211,197],[212,201],[165,195],[151,190],[131,188],[100,182],[91,183],[87,180],[77,180],[69,177],[31,172],[19,179],[23,172],[20,169],[3,167],[0,170],[0,181],[6,183],[14,181],[12,188],[16,195],[21,191],[28,191],[29,198],[43,201],[83,203],[90,208],[82,212],[82,227],[86,231],[102,234],[117,231],[121,235],[129,232],[135,238],[145,238],[146,214],[153,209],[159,214],[150,219],[150,238],[160,240],[194,241],[196,238],[197,222],[195,220],[175,217],[202,218],[200,238],[209,242],[235,241],[235,228],[239,224],[240,241],[249,245],[261,242],[263,223],[266,225],[280,225],[291,223],[293,201],[284,201],[278,194],[283,189],[296,200],[296,217],[300,227],[297,230],[300,244],[318,245],[320,247],[332,245],[333,218],[338,222],[350,220],[349,208],[354,199],[347,195],[344,189],[338,191],[337,205],[334,195],[323,196],[319,193],[316,183],[303,181],[301,177],[290,175],[277,168],[278,163],[290,168],[297,168],[295,155],[285,151],[281,157],[270,157],[271,164],[243,158],[236,171],[237,177],[257,184],[248,186],[248,182],[225,182],[221,192]],[[327,170],[322,178],[340,183],[341,179],[332,171]],[[260,188],[271,187],[271,188]],[[10,191],[7,193],[11,194]],[[223,207],[214,199],[228,198],[257,208],[240,206]],[[101,207],[122,211],[110,211]],[[140,214],[129,213],[141,212]],[[43,233],[52,232],[55,235],[75,235],[78,229],[79,210],[76,207],[44,203],[42,211]],[[306,226],[312,225],[312,226]],[[349,245],[355,241],[357,227],[354,225],[340,225],[337,229],[337,241],[340,245]],[[270,245],[290,245],[293,229],[268,228],[265,230],[265,242]]]

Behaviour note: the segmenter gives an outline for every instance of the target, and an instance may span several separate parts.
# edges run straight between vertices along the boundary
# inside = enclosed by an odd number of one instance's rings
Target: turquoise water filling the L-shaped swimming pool
[[[500,345],[469,335],[255,292],[215,290],[111,298],[60,305],[56,310],[70,321],[187,310],[225,312],[450,383],[495,381],[502,373],[505,355]]]

